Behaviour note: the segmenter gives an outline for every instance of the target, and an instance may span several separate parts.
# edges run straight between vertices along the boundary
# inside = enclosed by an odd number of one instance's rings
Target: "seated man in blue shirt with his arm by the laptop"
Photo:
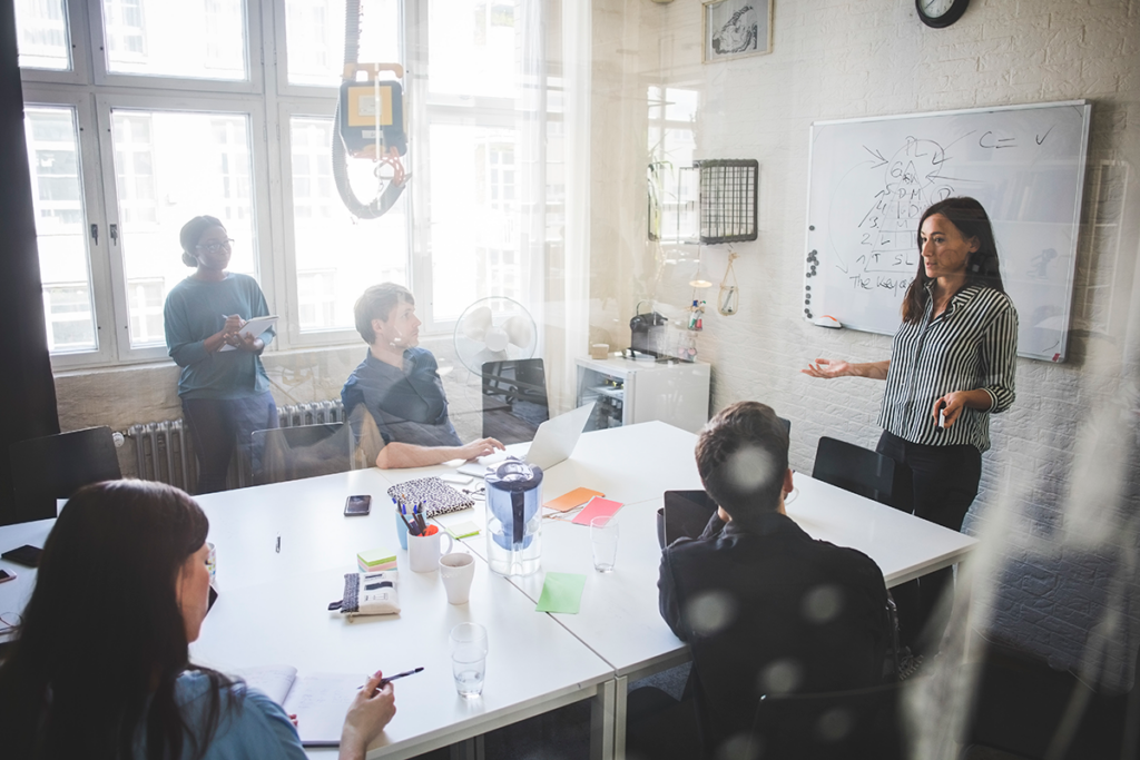
[[[447,394],[435,357],[418,348],[420,319],[412,293],[394,283],[373,285],[353,309],[368,356],[341,390],[344,416],[360,438],[367,409],[384,447],[382,469],[423,467],[450,459],[473,459],[502,449],[492,438],[463,444],[447,416]]]

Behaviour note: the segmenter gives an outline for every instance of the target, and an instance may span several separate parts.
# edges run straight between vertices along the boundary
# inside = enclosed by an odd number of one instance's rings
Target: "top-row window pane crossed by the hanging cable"
[[[399,0],[361,0],[361,63],[400,63]],[[339,87],[344,68],[344,0],[285,0],[290,84]]]

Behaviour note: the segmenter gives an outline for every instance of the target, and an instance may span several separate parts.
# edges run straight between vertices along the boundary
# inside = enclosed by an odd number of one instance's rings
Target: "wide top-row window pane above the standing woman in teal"
[[[247,80],[243,0],[103,0],[107,71]]]

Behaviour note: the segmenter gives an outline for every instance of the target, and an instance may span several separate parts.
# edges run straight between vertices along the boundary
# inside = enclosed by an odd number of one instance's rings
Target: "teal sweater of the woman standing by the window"
[[[182,368],[178,395],[184,399],[245,399],[269,390],[261,359],[249,351],[205,349],[205,340],[221,330],[226,317],[242,319],[269,314],[266,296],[249,275],[226,275],[220,283],[187,277],[171,288],[164,310],[166,348]],[[269,343],[272,330],[261,340]]]

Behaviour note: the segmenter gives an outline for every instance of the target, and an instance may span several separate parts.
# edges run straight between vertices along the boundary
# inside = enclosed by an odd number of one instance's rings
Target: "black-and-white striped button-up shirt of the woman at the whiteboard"
[[[990,448],[990,414],[1013,403],[1017,374],[1017,310],[1004,293],[970,285],[934,316],[928,296],[922,319],[895,333],[879,425],[912,443]],[[931,416],[936,399],[952,391],[982,389],[990,408],[963,409],[953,425],[938,430]]]

